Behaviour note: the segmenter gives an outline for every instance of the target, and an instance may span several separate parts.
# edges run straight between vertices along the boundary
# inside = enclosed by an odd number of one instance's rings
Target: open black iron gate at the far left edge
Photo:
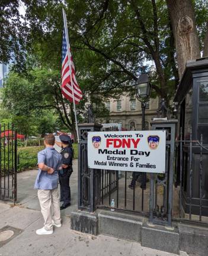
[[[17,132],[0,124],[0,199],[17,200]]]

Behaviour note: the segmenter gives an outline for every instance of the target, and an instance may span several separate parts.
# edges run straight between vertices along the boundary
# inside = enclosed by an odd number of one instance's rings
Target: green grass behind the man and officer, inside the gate
[[[37,153],[44,149],[44,146],[18,147],[18,172],[26,169],[37,168]],[[78,144],[73,144],[74,158],[78,158]]]

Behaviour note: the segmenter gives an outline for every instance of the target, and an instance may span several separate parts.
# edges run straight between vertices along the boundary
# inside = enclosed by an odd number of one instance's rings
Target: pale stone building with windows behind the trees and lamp
[[[151,98],[146,103],[145,110],[145,129],[150,128],[152,117],[156,117],[159,98]],[[142,129],[142,108],[137,98],[131,99],[127,94],[121,95],[119,100],[110,98],[106,102],[106,107],[110,111],[110,123],[122,123],[123,129],[141,130]]]

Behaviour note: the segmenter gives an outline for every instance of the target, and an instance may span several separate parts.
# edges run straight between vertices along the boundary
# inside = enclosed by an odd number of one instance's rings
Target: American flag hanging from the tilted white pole
[[[78,104],[82,99],[82,91],[79,88],[78,82],[75,78],[75,66],[73,65],[72,54],[69,45],[69,56],[71,65],[69,65],[68,47],[66,42],[66,33],[63,28],[63,41],[62,41],[62,94],[69,101],[73,102],[73,95],[75,104]],[[73,94],[72,94],[73,87]]]

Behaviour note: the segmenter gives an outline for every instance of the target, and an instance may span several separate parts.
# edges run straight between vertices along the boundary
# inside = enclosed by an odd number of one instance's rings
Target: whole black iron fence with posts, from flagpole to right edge
[[[166,130],[165,174],[89,169],[87,160],[87,132],[100,127],[79,126],[79,203],[78,208],[93,212],[104,207],[140,213],[150,222],[171,225],[175,220],[199,220],[208,216],[208,148],[200,142],[177,140],[177,121],[152,124],[154,130]],[[90,124],[88,124],[90,125]],[[86,127],[85,127],[86,126]],[[175,171],[175,175],[174,175]],[[174,183],[175,177],[175,183]]]

